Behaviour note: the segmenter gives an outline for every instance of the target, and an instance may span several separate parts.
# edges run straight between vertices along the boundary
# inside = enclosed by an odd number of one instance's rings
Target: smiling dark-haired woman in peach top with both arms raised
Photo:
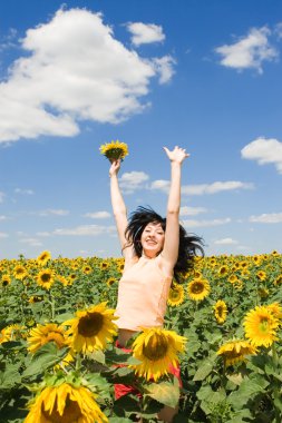
[[[166,218],[150,208],[138,207],[128,220],[117,178],[120,160],[113,161],[109,169],[113,212],[125,258],[116,307],[120,347],[140,327],[163,326],[173,278],[187,270],[197,249],[203,254],[201,238],[188,236],[179,225],[181,171],[189,155],[177,146],[172,151],[166,147],[164,150],[171,160]],[[165,409],[162,419],[169,422],[175,411]]]

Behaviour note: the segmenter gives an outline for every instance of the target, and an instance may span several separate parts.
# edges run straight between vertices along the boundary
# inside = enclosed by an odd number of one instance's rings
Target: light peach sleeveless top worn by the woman
[[[119,328],[163,326],[172,276],[162,273],[156,258],[140,257],[125,269],[118,286],[115,323]]]

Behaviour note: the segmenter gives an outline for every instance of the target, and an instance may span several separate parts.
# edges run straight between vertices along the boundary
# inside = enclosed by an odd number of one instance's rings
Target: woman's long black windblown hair
[[[137,207],[129,216],[129,223],[125,230],[126,239],[128,244],[126,247],[133,245],[134,250],[138,257],[142,256],[140,237],[145,227],[150,224],[161,224],[163,230],[166,228],[166,218],[163,218],[150,207]],[[197,252],[204,256],[203,239],[196,235],[187,234],[182,225],[179,225],[179,248],[177,262],[174,266],[174,277],[179,282],[179,274],[187,272],[193,267],[193,257],[197,255]]]

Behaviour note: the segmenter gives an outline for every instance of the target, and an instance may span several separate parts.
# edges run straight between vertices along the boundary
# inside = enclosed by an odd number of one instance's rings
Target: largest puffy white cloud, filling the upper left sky
[[[153,77],[169,59],[143,59],[114,37],[100,13],[59,10],[21,40],[25,55],[0,83],[0,142],[75,136],[79,122],[117,124],[140,112]]]

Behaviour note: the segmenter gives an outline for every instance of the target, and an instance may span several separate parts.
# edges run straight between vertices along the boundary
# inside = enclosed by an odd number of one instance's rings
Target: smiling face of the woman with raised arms
[[[145,226],[140,243],[146,256],[155,257],[162,252],[165,242],[165,232],[159,223],[149,223]]]

